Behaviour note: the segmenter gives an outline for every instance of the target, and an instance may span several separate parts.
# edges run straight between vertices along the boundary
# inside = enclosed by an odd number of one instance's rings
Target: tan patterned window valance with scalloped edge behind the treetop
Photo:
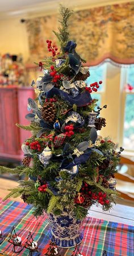
[[[27,20],[31,60],[43,60],[49,54],[46,40],[56,43],[52,30],[57,30],[57,20],[56,15]],[[134,63],[134,2],[77,11],[70,19],[69,32],[89,65],[106,58]]]

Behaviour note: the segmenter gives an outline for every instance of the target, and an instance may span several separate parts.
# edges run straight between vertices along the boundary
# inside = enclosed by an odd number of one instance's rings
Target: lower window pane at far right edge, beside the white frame
[[[123,146],[134,150],[134,94],[126,96]]]

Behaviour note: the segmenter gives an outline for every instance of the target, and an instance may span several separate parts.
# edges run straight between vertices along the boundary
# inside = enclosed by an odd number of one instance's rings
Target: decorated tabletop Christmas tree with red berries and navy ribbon
[[[61,7],[60,13],[59,32],[54,31],[60,49],[47,40],[52,56],[39,62],[43,75],[32,81],[36,100],[28,98],[28,110],[32,111],[26,115],[31,123],[18,125],[32,133],[22,145],[23,166],[1,170],[29,177],[10,189],[5,200],[21,196],[35,207],[36,217],[46,212],[56,216],[61,228],[69,228],[69,212],[76,220],[83,220],[91,205],[110,210],[115,203],[114,174],[123,148],[116,152],[110,138],[97,135],[106,120],[100,117],[102,108],[94,110],[97,100],[91,93],[97,92],[102,81],[87,87],[89,67],[76,52],[76,42],[69,40],[72,11]],[[68,214],[61,221],[65,210]]]

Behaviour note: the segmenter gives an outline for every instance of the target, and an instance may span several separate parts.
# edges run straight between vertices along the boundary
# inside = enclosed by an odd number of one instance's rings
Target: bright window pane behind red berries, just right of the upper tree
[[[105,80],[105,74],[106,74],[106,63],[99,65],[99,66],[94,66],[89,68],[90,72],[90,77],[86,79],[86,84],[89,86],[90,84],[93,84],[93,82],[99,82],[103,81],[103,84],[100,85],[98,88],[98,92],[104,90],[104,80]]]

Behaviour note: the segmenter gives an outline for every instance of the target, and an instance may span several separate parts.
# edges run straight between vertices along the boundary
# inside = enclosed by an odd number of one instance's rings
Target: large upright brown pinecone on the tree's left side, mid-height
[[[52,122],[55,119],[56,109],[51,102],[45,102],[41,109],[41,116],[46,122]]]

